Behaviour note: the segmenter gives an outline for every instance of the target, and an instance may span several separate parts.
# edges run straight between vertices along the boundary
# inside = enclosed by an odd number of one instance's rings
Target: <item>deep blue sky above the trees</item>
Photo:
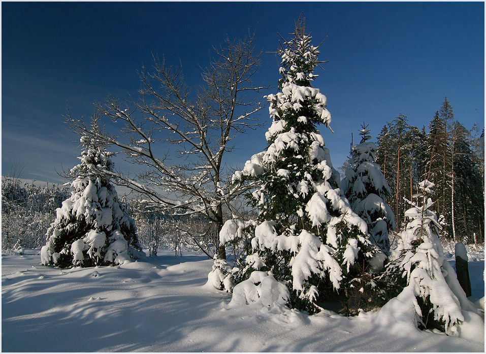
[[[314,86],[333,115],[321,128],[337,168],[351,132],[370,124],[373,137],[400,113],[428,125],[447,95],[466,128],[484,126],[484,3],[2,3],[2,174],[12,159],[23,178],[63,182],[56,170],[78,160],[78,137],[62,114],[89,117],[108,93],[126,97],[139,88],[136,70],[151,52],[183,65],[189,85],[199,66],[226,36],[256,28],[262,65],[255,82],[279,78],[279,37],[304,12],[315,44],[328,36],[320,59],[326,72]],[[263,95],[263,94],[262,94]],[[263,98],[262,98],[263,99]],[[242,167],[266,147],[265,128],[237,141],[229,162]],[[131,168],[122,161],[123,170]]]

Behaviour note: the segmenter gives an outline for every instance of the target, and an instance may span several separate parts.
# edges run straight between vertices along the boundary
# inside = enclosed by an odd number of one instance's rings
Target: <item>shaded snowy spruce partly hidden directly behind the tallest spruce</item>
[[[385,198],[391,196],[391,191],[380,166],[374,163],[377,148],[368,141],[371,139],[368,125],[363,123],[361,128],[361,143],[352,147],[341,188],[353,211],[366,221],[370,241],[389,255],[388,230],[395,230],[395,215]]]

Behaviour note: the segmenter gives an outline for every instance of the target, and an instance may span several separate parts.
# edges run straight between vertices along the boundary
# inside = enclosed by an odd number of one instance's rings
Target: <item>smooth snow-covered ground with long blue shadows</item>
[[[398,303],[356,317],[232,307],[206,285],[211,266],[169,251],[67,270],[42,266],[39,250],[2,255],[2,351],[484,351],[483,315],[467,312],[448,337],[416,329]],[[482,298],[484,251],[469,254],[469,272]]]

